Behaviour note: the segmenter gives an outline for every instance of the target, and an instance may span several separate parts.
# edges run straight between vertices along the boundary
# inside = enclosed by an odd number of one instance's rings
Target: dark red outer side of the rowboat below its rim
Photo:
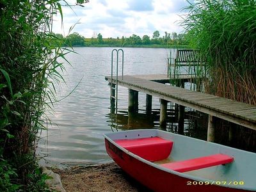
[[[116,164],[118,164],[118,166],[131,175],[131,177],[153,191],[246,191],[218,186],[216,184],[208,184],[200,180],[191,180],[180,176],[180,174],[173,174],[158,169],[155,166],[150,165],[150,163],[148,164],[140,161],[140,158],[131,156],[130,152],[123,150],[122,147],[118,147],[118,145],[109,141],[107,138],[105,138],[105,145],[109,156]]]

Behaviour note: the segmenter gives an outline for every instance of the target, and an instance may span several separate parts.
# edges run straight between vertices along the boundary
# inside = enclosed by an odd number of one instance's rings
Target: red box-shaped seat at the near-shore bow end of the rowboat
[[[115,142],[147,161],[159,161],[161,159],[166,159],[170,155],[173,145],[173,141],[164,140],[159,137],[115,140]]]

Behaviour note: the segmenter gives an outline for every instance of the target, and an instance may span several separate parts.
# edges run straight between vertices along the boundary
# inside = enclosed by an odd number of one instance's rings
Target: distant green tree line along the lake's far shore
[[[61,34],[53,34],[58,38],[58,45],[62,46],[79,46],[79,47],[167,47],[175,45],[188,45],[186,35],[164,32],[160,36],[159,31],[154,31],[152,38],[148,35],[143,35],[142,38],[138,35],[132,34],[129,37],[122,36],[122,38],[102,38],[99,33],[93,35],[92,38],[85,38],[79,33],[72,33],[66,37]]]

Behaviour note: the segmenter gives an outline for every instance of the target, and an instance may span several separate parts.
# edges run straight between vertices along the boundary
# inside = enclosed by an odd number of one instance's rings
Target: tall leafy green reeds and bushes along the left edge
[[[36,146],[68,53],[51,31],[57,12],[59,0],[0,3],[0,191],[45,190]]]

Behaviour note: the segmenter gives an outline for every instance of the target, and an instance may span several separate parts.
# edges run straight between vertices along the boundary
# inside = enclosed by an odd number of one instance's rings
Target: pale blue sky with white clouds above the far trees
[[[76,4],[76,0],[67,2]],[[181,16],[186,15],[182,8],[188,3],[186,0],[90,0],[83,5],[72,6],[72,9],[63,6],[63,27],[59,13],[54,17],[54,33],[67,36],[77,32],[85,38],[96,37],[99,33],[103,38],[132,34],[152,38],[154,31],[159,31],[160,36],[164,31],[182,33],[184,29],[179,22]]]

